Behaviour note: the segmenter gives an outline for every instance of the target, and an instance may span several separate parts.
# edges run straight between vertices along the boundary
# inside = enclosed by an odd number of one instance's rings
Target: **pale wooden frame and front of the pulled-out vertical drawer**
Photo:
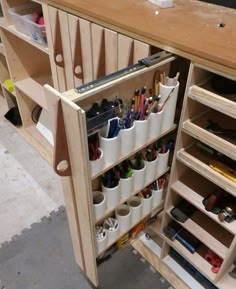
[[[108,101],[120,98],[124,103],[131,103],[135,90],[146,86],[148,91],[152,87],[154,75],[158,71],[168,75],[171,63],[175,59],[176,57],[171,54],[160,52],[137,65],[82,86],[82,89],[72,89],[62,94],[45,86],[55,141],[54,169],[60,176],[64,176],[63,180],[67,182],[66,198],[70,199],[69,203],[67,202],[69,208],[67,211],[76,261],[95,286],[98,285],[96,264],[98,249],[92,197],[93,183],[110,168],[172,131],[176,127],[174,125],[176,102],[171,105],[173,119],[169,128],[164,127],[158,135],[147,137],[145,142],[136,144],[129,153],[120,153],[115,161],[105,162],[94,175],[91,174],[89,161],[90,132],[86,111],[93,103],[100,104],[104,98]]]

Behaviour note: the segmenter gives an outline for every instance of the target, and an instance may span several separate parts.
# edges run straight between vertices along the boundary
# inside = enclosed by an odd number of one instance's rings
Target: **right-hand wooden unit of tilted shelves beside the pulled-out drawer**
[[[228,289],[229,284],[236,285],[236,282],[229,278],[225,278],[226,283],[222,283],[221,280],[236,258],[236,227],[234,222],[220,222],[217,215],[205,210],[202,201],[219,188],[236,196],[236,183],[209,166],[213,156],[209,151],[203,150],[198,141],[235,160],[235,143],[206,130],[208,119],[218,122],[222,127],[235,127],[236,115],[231,111],[235,102],[201,88],[206,83],[205,87],[209,87],[211,75],[212,71],[208,71],[206,67],[191,64],[161,231],[174,219],[170,211],[182,198],[193,204],[197,211],[186,222],[179,224],[223,259],[219,272],[214,274],[211,271],[211,265],[204,259],[205,250],[200,250],[200,254],[191,254],[178,241],[171,241],[164,233],[163,237],[170,247],[184,256],[216,286],[220,284],[219,288]],[[220,109],[219,100],[223,110]],[[232,106],[228,106],[229,102],[232,102]],[[163,257],[167,255],[168,248]]]

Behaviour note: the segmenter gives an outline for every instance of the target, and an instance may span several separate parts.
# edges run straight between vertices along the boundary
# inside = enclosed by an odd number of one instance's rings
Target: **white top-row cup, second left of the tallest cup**
[[[142,146],[147,142],[149,136],[150,118],[135,121],[135,145]]]

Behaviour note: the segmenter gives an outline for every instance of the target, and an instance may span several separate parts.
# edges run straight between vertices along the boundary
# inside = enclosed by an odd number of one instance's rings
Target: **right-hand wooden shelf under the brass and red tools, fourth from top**
[[[189,179],[192,179],[191,176],[189,177]],[[198,183],[198,184],[201,184],[201,183]],[[196,188],[194,190],[180,180],[176,181],[171,186],[171,189],[175,191],[178,195],[183,197],[185,200],[187,200],[189,203],[194,205],[197,209],[202,211],[206,216],[208,216],[209,218],[217,222],[219,225],[221,225],[224,229],[236,235],[236,221],[232,223],[221,222],[217,215],[205,210],[205,207],[202,201],[205,197],[207,197],[207,195],[209,195],[209,191],[198,190]]]

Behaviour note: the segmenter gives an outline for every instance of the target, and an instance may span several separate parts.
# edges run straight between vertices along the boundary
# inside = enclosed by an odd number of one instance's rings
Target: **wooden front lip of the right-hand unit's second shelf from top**
[[[235,122],[236,125],[236,122]],[[233,160],[236,160],[236,146],[223,138],[208,132],[206,129],[187,120],[183,123],[183,131],[201,142],[211,146],[217,151],[225,154]]]

